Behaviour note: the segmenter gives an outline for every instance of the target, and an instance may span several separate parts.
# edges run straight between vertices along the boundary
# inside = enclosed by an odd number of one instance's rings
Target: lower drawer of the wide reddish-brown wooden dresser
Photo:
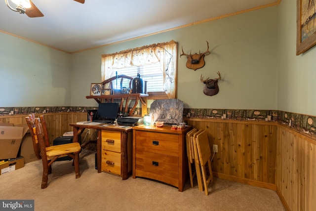
[[[178,178],[178,162],[178,157],[175,156],[142,151],[136,154],[136,170],[163,175],[165,177]]]

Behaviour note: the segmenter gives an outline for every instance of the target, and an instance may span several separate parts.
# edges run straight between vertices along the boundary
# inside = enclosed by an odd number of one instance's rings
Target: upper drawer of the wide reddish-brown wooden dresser
[[[147,151],[170,156],[178,156],[178,135],[136,131],[136,153]]]

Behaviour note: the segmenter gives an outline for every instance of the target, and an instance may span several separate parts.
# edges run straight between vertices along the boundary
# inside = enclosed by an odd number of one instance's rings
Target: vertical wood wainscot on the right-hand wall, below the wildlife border
[[[316,141],[279,126],[276,154],[276,186],[289,210],[316,207]]]

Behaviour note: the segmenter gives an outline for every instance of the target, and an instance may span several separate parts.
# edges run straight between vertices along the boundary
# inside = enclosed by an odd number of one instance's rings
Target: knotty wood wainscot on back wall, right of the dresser
[[[275,183],[276,125],[200,120],[188,124],[208,132],[211,149],[218,145],[212,160],[214,172]]]

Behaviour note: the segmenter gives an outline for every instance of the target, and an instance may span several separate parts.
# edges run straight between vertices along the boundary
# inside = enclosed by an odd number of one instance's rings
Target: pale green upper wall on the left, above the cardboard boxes
[[[71,104],[71,55],[0,33],[0,107]]]

